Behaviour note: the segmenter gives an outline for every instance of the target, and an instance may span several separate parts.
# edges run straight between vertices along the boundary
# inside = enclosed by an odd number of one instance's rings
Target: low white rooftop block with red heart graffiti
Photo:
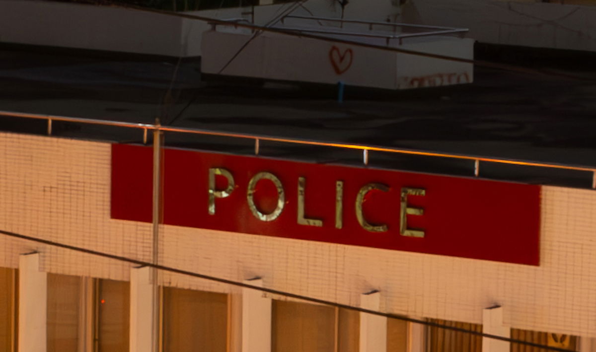
[[[252,37],[250,32],[203,35],[203,73],[273,80],[411,89],[473,82],[473,65],[411,54],[263,33],[228,61]],[[384,39],[353,39],[384,45]],[[395,48],[473,58],[471,39],[429,36],[390,43]]]

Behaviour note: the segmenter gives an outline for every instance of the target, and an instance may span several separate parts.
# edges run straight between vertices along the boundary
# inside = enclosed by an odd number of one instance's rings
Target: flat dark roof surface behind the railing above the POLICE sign
[[[144,123],[160,117],[173,126],[596,168],[596,72],[573,60],[550,69],[595,80],[476,67],[470,85],[412,91],[348,86],[338,102],[334,86],[201,77],[197,60],[88,54],[3,46],[0,110]],[[42,122],[7,117],[0,128],[45,133]],[[54,134],[141,141],[136,131],[67,123],[55,124]],[[166,143],[253,152],[252,141],[230,138],[170,133]],[[263,142],[261,154],[319,163],[362,160],[359,151],[274,142]],[[383,152],[371,152],[370,166],[457,175],[473,170],[467,160]],[[591,175],[569,170],[483,165],[481,176],[591,186]]]

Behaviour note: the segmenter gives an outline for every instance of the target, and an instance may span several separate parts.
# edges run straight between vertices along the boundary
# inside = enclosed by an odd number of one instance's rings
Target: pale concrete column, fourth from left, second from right
[[[381,303],[378,291],[360,295],[360,307],[377,310]],[[387,350],[387,318],[368,313],[360,313],[360,352]]]

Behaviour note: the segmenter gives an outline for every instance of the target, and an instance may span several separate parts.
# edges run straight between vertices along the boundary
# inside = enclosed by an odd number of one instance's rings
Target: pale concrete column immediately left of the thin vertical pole
[[[153,297],[150,267],[131,269],[131,326],[130,351],[153,350]]]

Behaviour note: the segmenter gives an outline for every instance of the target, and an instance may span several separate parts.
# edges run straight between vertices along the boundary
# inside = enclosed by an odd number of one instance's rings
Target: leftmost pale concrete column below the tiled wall
[[[48,274],[39,271],[39,253],[18,257],[18,351],[45,352]]]

